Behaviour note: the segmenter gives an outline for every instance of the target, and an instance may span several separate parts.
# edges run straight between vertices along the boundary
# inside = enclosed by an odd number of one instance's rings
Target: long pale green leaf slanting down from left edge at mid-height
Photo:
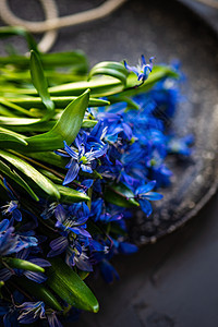
[[[0,157],[7,160],[11,166],[19,169],[24,175],[26,175],[32,181],[33,184],[39,186],[48,195],[56,198],[60,198],[60,193],[55,186],[55,184],[28,162],[3,150],[0,150]]]

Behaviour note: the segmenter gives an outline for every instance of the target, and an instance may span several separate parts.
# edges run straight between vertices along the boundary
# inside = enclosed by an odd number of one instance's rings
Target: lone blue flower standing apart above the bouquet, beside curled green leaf
[[[138,62],[137,66],[130,66],[125,61],[124,66],[129,72],[133,72],[137,75],[137,81],[142,81],[142,83],[144,83],[149,73],[153,71],[153,60],[154,57],[150,57],[149,63],[146,63],[145,57],[142,55],[141,62]]]

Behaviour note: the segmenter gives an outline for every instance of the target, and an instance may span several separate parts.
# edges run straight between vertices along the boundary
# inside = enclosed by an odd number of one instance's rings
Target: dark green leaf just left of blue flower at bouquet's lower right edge
[[[140,206],[140,204],[134,199],[134,193],[122,183],[107,186],[104,196],[107,202],[120,207],[131,208]]]

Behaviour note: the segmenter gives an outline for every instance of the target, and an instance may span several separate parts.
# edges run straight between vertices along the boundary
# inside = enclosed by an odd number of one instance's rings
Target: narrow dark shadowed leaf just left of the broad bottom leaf
[[[62,311],[62,307],[53,295],[53,293],[45,287],[45,284],[34,282],[25,277],[19,277],[15,282],[24,289],[29,295],[36,298],[38,301],[44,301],[48,307],[56,311]]]

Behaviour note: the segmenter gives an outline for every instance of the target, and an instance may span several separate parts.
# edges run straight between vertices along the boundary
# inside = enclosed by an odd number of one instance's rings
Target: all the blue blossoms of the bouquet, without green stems
[[[146,64],[142,57],[138,68],[126,62],[124,65],[144,83],[153,69],[153,58]],[[141,207],[147,219],[153,213],[150,202],[162,198],[157,189],[170,183],[172,172],[166,165],[167,156],[191,154],[193,137],[179,138],[169,133],[166,124],[180,100],[178,84],[170,77],[161,80],[152,90],[133,96],[132,106],[114,96],[108,107],[88,108],[87,114],[97,124],[81,129],[72,144],[64,142],[63,148],[56,152],[69,159],[63,185],[76,185],[92,202],[61,204],[41,198],[40,204],[34,204],[34,214],[20,205],[4,180],[10,201],[1,203],[0,256],[13,254],[41,268],[50,266],[49,258],[61,256],[77,271],[99,269],[107,282],[119,278],[111,257],[137,251],[126,238],[126,222],[134,216],[132,207]],[[48,232],[44,233],[39,221]],[[10,294],[14,276],[25,276],[36,283],[47,279],[44,272],[11,268],[2,259],[0,280],[9,282],[0,300],[4,325],[41,319],[49,326],[61,326],[56,311],[46,310],[43,301],[29,300],[19,288]]]

